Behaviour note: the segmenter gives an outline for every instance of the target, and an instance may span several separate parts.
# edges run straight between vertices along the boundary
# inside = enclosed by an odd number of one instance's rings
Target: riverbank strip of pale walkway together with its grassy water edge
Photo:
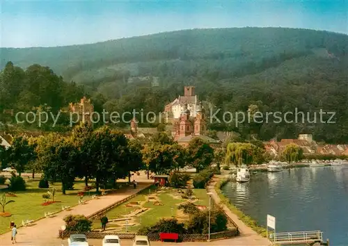
[[[220,190],[221,182],[224,182],[225,184],[227,183],[227,181],[223,180],[223,175],[214,175],[209,186],[207,186],[207,190],[212,192],[212,199],[214,199],[216,204],[221,204],[228,217],[230,217],[237,225],[240,233],[239,237],[243,241],[243,245],[269,246],[271,242],[264,237],[265,232],[264,236],[260,235],[260,233],[263,232],[255,230],[255,222],[252,222],[253,220],[251,220],[251,218],[248,218],[248,216],[240,211],[238,212],[235,207],[229,203],[228,199],[222,195]],[[248,218],[248,220],[246,220],[246,218]],[[264,231],[266,230],[264,229]]]

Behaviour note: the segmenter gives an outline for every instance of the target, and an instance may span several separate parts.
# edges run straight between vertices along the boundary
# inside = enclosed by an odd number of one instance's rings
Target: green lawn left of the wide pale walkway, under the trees
[[[12,213],[12,216],[4,218],[0,217],[0,234],[10,230],[10,222],[13,221],[17,226],[22,225],[22,220],[38,220],[45,216],[46,213],[61,211],[61,206],[74,206],[79,204],[77,193],[84,188],[84,181],[75,181],[74,190],[67,190],[67,194],[63,195],[61,191],[56,191],[54,201],[61,201],[48,206],[42,206],[44,202],[42,194],[46,193],[46,188],[38,188],[38,179],[26,180],[26,191],[14,192],[17,197],[6,197],[6,200],[14,200],[15,202],[8,204],[5,211]],[[61,189],[61,183],[56,182],[51,187]],[[88,200],[95,192],[85,192],[84,200]],[[0,191],[0,195],[2,192]],[[52,201],[52,199],[50,199]]]

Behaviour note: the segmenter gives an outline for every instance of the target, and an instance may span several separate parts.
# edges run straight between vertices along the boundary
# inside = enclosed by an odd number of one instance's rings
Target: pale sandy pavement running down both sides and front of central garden
[[[212,182],[208,186],[209,192],[212,192],[213,199],[219,203],[220,199],[217,195],[214,185],[222,176],[216,176],[212,179]],[[68,246],[67,240],[61,240],[57,238],[58,230],[64,224],[63,218],[65,215],[69,214],[84,214],[86,216],[99,211],[106,206],[109,206],[115,202],[118,202],[126,197],[133,195],[142,188],[149,185],[152,180],[147,180],[145,176],[136,177],[136,181],[139,182],[139,186],[134,188],[127,188],[125,190],[120,190],[120,192],[113,195],[106,195],[100,197],[100,199],[94,199],[88,201],[84,205],[77,205],[72,208],[71,211],[62,211],[57,213],[56,217],[42,219],[32,227],[20,227],[18,229],[17,235],[17,245],[20,246]],[[227,206],[223,206],[226,213],[232,218],[233,221],[238,225],[241,236],[230,238],[226,240],[212,240],[211,242],[188,242],[188,243],[161,243],[161,242],[151,242],[152,246],[160,245],[184,245],[184,246],[269,246],[271,243],[266,238],[262,238],[255,231],[247,227],[237,215],[233,214]],[[12,245],[10,241],[10,232],[0,235],[0,245],[10,246]],[[90,239],[88,240],[91,246],[102,246],[102,240],[100,239]],[[122,246],[132,246],[132,240],[122,240]]]

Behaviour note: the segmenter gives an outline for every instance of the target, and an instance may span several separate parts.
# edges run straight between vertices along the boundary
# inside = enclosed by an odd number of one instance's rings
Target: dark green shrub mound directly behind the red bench
[[[183,223],[177,222],[177,219],[161,219],[156,224],[150,227],[141,228],[138,233],[140,235],[148,235],[148,233],[160,233],[160,232],[171,232],[183,234],[186,233]]]

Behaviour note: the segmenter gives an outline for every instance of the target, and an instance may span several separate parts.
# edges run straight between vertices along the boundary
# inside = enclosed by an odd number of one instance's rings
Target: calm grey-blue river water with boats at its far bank
[[[348,165],[259,172],[222,191],[262,226],[270,214],[276,232],[320,230],[330,245],[348,246]]]

